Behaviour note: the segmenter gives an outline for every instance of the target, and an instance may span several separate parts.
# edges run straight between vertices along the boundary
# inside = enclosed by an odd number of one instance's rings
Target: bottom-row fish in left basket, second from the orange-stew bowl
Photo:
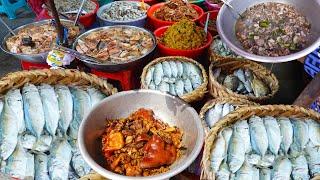
[[[48,158],[50,179],[68,179],[71,157],[70,144],[65,139],[56,139]]]

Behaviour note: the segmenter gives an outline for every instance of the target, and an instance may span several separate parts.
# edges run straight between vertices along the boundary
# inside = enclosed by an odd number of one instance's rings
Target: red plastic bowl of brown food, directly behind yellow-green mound
[[[163,20],[160,20],[156,17],[154,17],[154,12],[159,9],[161,6],[163,6],[165,3],[158,3],[158,4],[155,4],[153,6],[151,6],[148,11],[147,11],[147,16],[148,16],[148,23],[150,23],[150,25],[154,28],[154,29],[158,29],[160,27],[163,27],[163,26],[170,26],[172,24],[174,24],[175,22],[172,22],[172,21],[163,21]],[[194,4],[191,4],[191,6],[193,7],[193,9],[195,9],[197,12],[198,12],[198,15],[199,17],[192,20],[192,21],[199,21],[199,19],[202,17],[202,15],[204,14],[204,11],[203,9],[201,9],[201,7],[197,6],[197,5],[194,5]]]

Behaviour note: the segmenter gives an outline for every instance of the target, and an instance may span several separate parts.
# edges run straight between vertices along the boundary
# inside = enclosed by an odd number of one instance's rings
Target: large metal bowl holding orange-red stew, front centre
[[[105,169],[101,152],[101,135],[106,119],[128,117],[139,108],[152,109],[155,115],[169,125],[183,131],[182,145],[185,153],[170,166],[170,170],[148,177],[119,175]],[[168,179],[186,169],[198,156],[204,132],[197,112],[178,97],[152,90],[123,91],[105,98],[81,122],[78,144],[81,155],[100,175],[116,180]]]

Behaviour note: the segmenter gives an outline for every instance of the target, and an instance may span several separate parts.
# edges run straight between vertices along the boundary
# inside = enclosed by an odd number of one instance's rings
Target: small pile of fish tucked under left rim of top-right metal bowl
[[[210,48],[214,53],[223,57],[243,58],[242,56],[239,56],[233,52],[224,42],[222,42],[220,37],[217,37],[213,40]]]

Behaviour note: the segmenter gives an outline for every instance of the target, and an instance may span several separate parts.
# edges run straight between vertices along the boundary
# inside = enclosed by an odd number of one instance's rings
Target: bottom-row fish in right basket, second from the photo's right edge
[[[309,169],[307,159],[304,155],[300,155],[297,158],[292,158],[292,178],[296,180],[308,180]]]

